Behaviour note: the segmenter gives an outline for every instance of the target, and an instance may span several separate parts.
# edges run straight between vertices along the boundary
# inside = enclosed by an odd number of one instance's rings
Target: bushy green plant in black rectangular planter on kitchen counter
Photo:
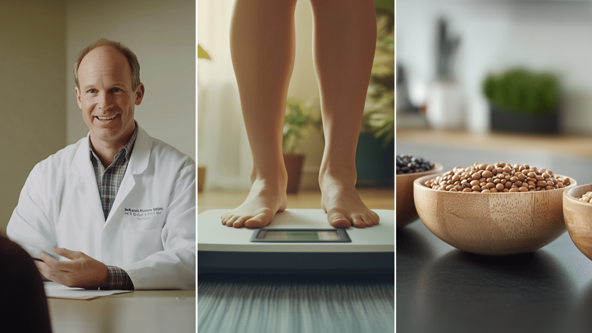
[[[558,132],[559,82],[554,75],[513,69],[488,75],[483,90],[490,102],[492,130]]]

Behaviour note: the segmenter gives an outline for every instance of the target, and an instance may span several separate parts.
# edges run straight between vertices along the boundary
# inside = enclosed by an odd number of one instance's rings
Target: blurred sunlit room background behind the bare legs
[[[234,0],[198,0],[198,213],[233,209],[250,189],[252,157],[230,60]],[[366,101],[356,168],[358,191],[370,209],[394,209],[394,1],[375,0],[377,52]],[[288,89],[284,160],[288,208],[320,209],[323,156],[318,84],[313,67],[313,16],[307,0],[295,9],[296,54]],[[352,64],[355,66],[355,64]]]

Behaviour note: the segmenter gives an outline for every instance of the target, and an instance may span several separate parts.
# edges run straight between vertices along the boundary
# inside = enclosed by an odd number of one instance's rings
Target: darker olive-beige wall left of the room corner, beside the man
[[[66,143],[65,1],[0,1],[0,233],[31,169]]]

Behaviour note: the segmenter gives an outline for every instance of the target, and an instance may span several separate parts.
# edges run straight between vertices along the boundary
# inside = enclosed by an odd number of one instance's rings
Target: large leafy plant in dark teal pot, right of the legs
[[[358,185],[392,185],[395,135],[394,5],[375,1],[377,44],[356,149]]]

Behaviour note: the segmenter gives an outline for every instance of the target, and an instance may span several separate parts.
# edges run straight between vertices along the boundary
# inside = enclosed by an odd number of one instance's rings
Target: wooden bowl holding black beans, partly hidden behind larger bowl
[[[434,163],[433,168],[428,171],[397,175],[397,228],[408,225],[419,217],[413,203],[413,181],[438,172],[442,172],[442,164]]]

